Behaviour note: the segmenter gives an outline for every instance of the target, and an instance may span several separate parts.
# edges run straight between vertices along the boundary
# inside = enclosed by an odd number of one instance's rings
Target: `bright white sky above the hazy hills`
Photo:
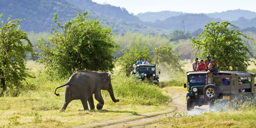
[[[163,10],[184,13],[214,13],[226,10],[250,10],[256,12],[256,0],[92,0],[98,4],[110,4],[126,8],[137,15]]]

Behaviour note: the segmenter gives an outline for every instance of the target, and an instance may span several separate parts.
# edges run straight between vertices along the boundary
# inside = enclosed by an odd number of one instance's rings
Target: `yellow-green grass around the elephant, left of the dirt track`
[[[69,103],[65,112],[59,113],[64,103],[65,88],[54,94],[56,87],[68,79],[54,80],[43,72],[43,65],[27,62],[35,78],[23,81],[23,88],[15,97],[14,90],[0,97],[0,127],[99,127],[158,114],[170,113],[175,108],[168,105],[172,99],[166,92],[148,83],[134,83],[132,78],[113,75],[112,85],[115,97],[113,103],[107,91],[102,90],[104,106],[101,110],[84,111],[80,100]],[[98,101],[94,99],[94,105]]]

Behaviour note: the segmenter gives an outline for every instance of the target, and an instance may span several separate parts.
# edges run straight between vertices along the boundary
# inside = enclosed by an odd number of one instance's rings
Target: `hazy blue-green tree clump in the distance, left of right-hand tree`
[[[182,31],[182,30],[175,30],[171,33],[172,35],[172,39],[170,39],[170,41],[176,41],[176,40],[179,40],[179,39],[191,39],[192,36],[190,35],[189,31],[187,31],[185,33],[185,31]]]

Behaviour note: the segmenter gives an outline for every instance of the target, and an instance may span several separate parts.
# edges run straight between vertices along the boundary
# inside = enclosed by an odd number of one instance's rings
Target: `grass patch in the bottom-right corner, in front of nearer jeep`
[[[251,100],[230,101],[222,103],[217,101],[215,108],[197,115],[189,112],[173,113],[172,116],[158,120],[150,127],[158,128],[255,128],[256,104]]]

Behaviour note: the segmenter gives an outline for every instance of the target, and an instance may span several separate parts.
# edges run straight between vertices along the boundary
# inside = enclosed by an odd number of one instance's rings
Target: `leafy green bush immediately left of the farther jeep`
[[[133,64],[137,63],[139,58],[142,61],[147,58],[148,61],[150,60],[150,54],[148,47],[142,47],[140,43],[131,46],[128,50],[123,49],[123,56],[117,59],[118,65],[121,66],[120,72],[124,73],[127,77],[130,76],[131,72],[133,71]]]

